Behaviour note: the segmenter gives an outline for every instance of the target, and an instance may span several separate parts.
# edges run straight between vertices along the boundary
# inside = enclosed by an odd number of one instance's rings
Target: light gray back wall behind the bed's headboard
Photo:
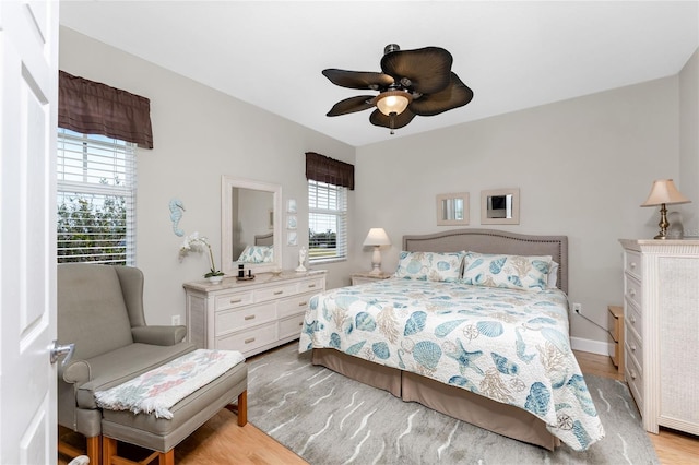
[[[499,228],[567,235],[569,296],[606,325],[607,305],[623,301],[618,238],[656,234],[657,210],[639,205],[653,179],[678,175],[677,92],[666,78],[358,148],[356,266],[370,262],[369,227],[391,237],[383,270],[395,269],[403,235],[449,229],[436,226],[439,193],[470,192],[469,227],[488,227],[481,191],[519,188],[520,224]],[[578,315],[572,335],[607,341]]]

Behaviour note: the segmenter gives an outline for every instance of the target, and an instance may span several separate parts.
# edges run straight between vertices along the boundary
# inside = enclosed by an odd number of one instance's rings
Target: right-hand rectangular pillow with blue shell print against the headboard
[[[475,286],[544,290],[548,282],[550,255],[506,255],[466,252],[463,282]]]

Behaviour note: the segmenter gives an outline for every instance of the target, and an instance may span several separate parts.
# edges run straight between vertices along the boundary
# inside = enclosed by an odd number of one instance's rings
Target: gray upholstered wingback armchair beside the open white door
[[[129,266],[58,265],[58,342],[75,344],[59,363],[58,422],[87,438],[87,456],[100,463],[102,410],[95,391],[121,384],[174,360],[194,346],[185,326],[149,326],[143,313],[143,274]],[[59,441],[59,451],[81,451]]]

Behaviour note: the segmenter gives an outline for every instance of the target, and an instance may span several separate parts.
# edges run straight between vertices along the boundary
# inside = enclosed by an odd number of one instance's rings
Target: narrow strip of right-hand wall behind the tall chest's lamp
[[[699,237],[699,49],[679,73],[679,191],[685,236]],[[668,210],[677,210],[671,207]]]

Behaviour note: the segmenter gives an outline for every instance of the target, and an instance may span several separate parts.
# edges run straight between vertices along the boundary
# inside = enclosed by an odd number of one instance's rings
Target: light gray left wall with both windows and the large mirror
[[[73,75],[151,99],[155,147],[138,151],[137,205],[137,266],[145,274],[150,324],[169,324],[173,314],[185,321],[182,283],[201,279],[210,267],[206,254],[191,254],[179,262],[181,238],[171,229],[170,199],[185,203],[179,226],[187,234],[198,230],[208,236],[221,267],[222,175],[281,184],[284,205],[296,199],[298,230],[305,231],[305,153],[355,162],[350,145],[64,27],[59,63]],[[354,194],[348,201],[352,207]],[[299,238],[303,242],[304,235]],[[283,243],[284,266],[296,267],[298,247]],[[329,270],[330,287],[344,283],[347,266],[346,262],[323,266]]]

